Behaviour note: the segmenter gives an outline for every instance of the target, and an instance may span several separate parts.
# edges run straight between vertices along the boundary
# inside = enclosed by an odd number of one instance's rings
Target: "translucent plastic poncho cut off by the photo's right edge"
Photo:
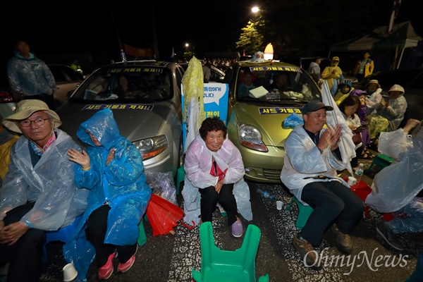
[[[377,212],[396,212],[423,189],[423,130],[415,137],[403,128],[381,133],[379,151],[394,160],[376,173],[365,203]]]

